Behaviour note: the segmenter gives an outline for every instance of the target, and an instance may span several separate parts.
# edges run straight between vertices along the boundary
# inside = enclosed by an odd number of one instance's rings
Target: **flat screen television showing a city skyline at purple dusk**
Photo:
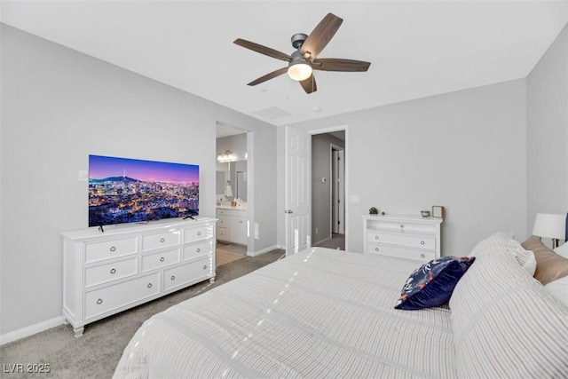
[[[199,166],[89,155],[89,226],[199,215]]]

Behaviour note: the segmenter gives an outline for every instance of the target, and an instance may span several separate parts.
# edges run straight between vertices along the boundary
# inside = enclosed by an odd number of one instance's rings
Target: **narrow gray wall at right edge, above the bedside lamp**
[[[568,28],[533,68],[527,88],[527,233],[536,213],[568,211]]]

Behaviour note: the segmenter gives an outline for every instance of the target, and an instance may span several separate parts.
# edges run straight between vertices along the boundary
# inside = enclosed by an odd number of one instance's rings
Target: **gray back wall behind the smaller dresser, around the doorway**
[[[347,200],[347,249],[363,251],[360,216],[372,206],[419,215],[443,205],[442,254],[465,255],[495,231],[525,238],[525,98],[525,80],[517,80],[292,126],[348,125],[347,193],[359,202]],[[284,127],[279,140],[282,146]],[[283,156],[280,147],[279,184]],[[279,225],[283,244],[284,217]]]

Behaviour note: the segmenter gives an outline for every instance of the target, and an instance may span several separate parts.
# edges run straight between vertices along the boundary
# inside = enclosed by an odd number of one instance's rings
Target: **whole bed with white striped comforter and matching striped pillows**
[[[406,311],[421,263],[308,249],[146,320],[114,377],[568,377],[568,305],[518,251],[488,237],[449,302]]]

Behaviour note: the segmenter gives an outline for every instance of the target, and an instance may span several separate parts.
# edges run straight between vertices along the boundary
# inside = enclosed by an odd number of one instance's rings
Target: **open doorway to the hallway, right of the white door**
[[[345,249],[345,130],[312,134],[313,246]]]

